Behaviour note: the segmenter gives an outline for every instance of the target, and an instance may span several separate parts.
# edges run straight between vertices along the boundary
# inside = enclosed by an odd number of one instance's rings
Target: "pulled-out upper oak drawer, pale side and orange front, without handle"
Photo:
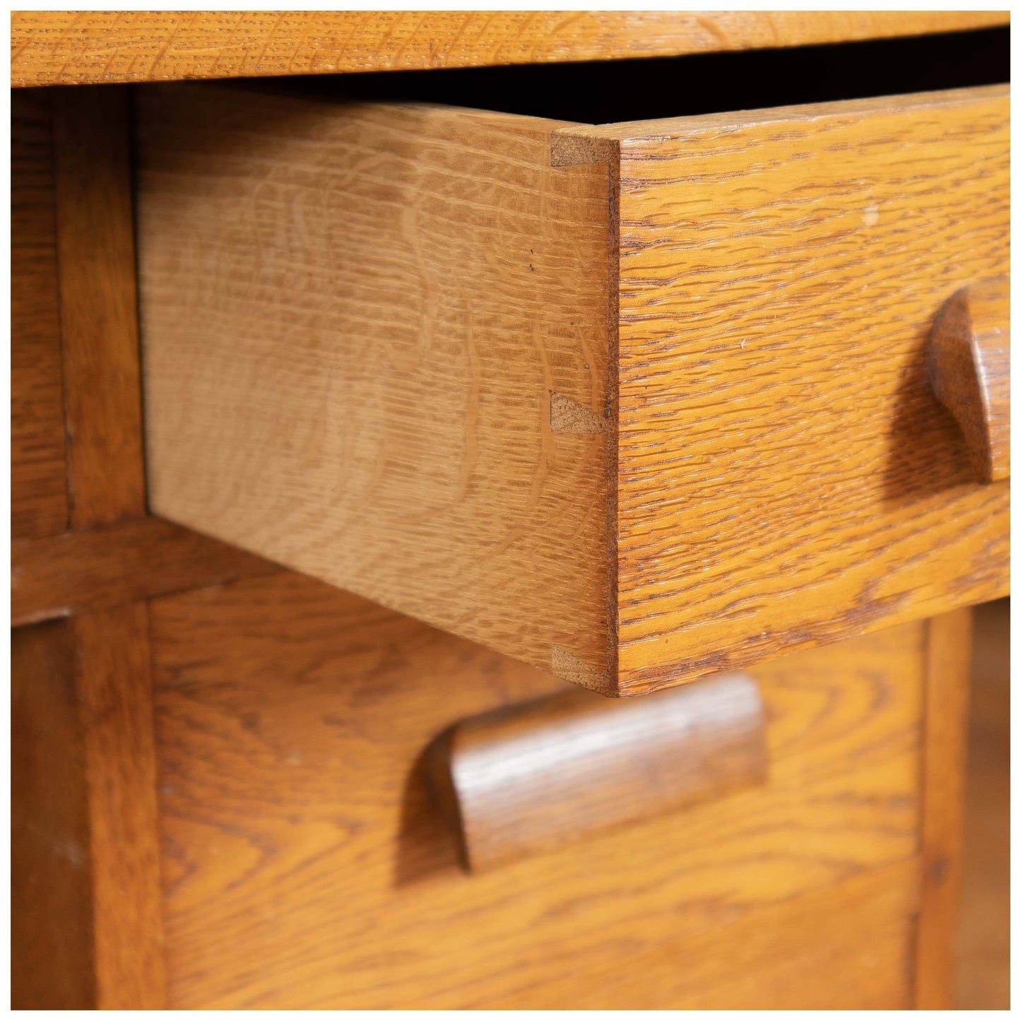
[[[154,513],[611,693],[1008,590],[928,367],[1008,273],[1006,86],[138,119]]]

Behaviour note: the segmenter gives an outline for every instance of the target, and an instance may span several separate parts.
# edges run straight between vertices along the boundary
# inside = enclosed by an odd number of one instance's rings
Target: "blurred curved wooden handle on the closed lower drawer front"
[[[764,733],[744,674],[636,699],[571,690],[455,724],[431,748],[431,783],[481,871],[761,783]]]

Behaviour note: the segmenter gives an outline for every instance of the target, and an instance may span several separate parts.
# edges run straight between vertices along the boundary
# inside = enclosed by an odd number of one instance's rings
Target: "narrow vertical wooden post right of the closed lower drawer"
[[[971,611],[927,622],[922,904],[915,1006],[952,1010],[961,898]]]

